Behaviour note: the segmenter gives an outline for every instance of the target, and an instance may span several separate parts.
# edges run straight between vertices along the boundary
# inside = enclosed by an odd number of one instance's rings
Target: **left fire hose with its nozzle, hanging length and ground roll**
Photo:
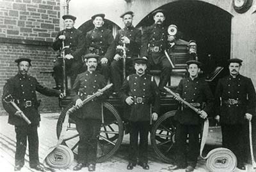
[[[113,83],[110,83],[109,85],[106,85],[103,89],[99,90],[99,92],[104,92],[105,90],[109,89]],[[83,100],[83,105],[91,101],[93,98],[97,96],[97,92],[93,94],[92,96],[86,98]],[[63,140],[65,140],[65,134],[67,133],[67,127],[68,127],[68,118],[69,115],[74,113],[77,108],[76,106],[73,106],[69,110],[67,110],[67,113],[65,115],[65,119],[62,124],[62,129],[60,133],[60,137],[57,141],[57,144],[47,151],[47,154],[44,158],[44,166],[49,166],[51,168],[58,168],[58,169],[66,169],[68,168],[72,162],[74,161],[74,154],[70,148],[68,148],[65,145],[61,145]],[[102,117],[103,119],[103,117]]]

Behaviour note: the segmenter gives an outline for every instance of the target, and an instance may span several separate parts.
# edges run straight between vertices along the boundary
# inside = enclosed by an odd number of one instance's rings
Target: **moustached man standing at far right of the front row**
[[[248,150],[248,121],[255,114],[255,89],[250,78],[240,75],[241,59],[230,59],[230,75],[221,78],[216,87],[216,119],[220,120],[223,147],[237,157],[237,168],[245,170]]]

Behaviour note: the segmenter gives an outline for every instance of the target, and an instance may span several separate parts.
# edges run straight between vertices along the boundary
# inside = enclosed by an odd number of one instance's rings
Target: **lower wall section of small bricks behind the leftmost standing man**
[[[0,44],[0,94],[3,94],[3,86],[6,80],[17,74],[17,64],[14,59],[19,57],[28,57],[32,60],[32,67],[29,69],[29,75],[35,76],[38,82],[47,87],[53,87],[54,80],[51,74],[40,73],[40,71],[49,71],[52,69],[52,62],[55,53],[50,47],[38,47],[35,45],[19,44]],[[46,97],[40,93],[38,99],[42,99],[40,111],[59,111],[58,98]],[[0,115],[6,114],[3,110],[3,104],[0,104]]]

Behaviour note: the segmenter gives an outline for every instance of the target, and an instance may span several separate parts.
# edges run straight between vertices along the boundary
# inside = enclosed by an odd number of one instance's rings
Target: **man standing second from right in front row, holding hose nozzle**
[[[175,139],[177,144],[176,165],[171,169],[186,168],[186,171],[193,171],[196,167],[199,155],[199,133],[201,124],[212,111],[214,96],[204,78],[199,78],[201,63],[198,61],[188,61],[189,77],[180,80],[177,87],[175,99],[180,97],[190,103],[195,108],[200,109],[199,114],[191,110],[188,106],[180,104],[179,110],[174,119],[177,120],[177,130]],[[186,152],[186,140],[189,134],[189,147]]]

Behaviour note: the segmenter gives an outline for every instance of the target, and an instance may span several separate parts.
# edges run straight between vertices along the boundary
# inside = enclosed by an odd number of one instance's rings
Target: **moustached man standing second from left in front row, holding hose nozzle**
[[[106,86],[106,79],[97,73],[97,59],[99,55],[85,55],[87,71],[77,75],[71,90],[72,99],[76,107],[80,108],[76,113],[76,128],[79,133],[78,164],[73,168],[75,171],[88,165],[89,171],[95,171],[97,159],[97,134],[100,131],[102,119],[102,102],[107,94],[97,93],[97,97],[83,106],[82,101],[99,89]]]

